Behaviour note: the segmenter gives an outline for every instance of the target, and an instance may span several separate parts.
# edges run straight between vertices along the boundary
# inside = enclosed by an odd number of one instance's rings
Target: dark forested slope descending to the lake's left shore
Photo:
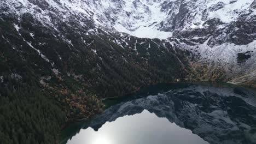
[[[53,68],[18,34],[12,24],[14,19],[3,19],[0,20],[0,35],[4,37],[0,38],[0,143],[57,143],[65,123],[103,110],[101,98],[121,97],[141,86],[172,82],[187,73],[177,63],[177,59],[185,63],[182,52],[159,49],[159,40],[150,42],[150,56],[146,51],[148,45],[138,45],[137,55],[108,41],[109,35],[83,35],[86,40],[94,41],[94,45],[81,45],[73,37],[77,30],[69,29],[67,37],[74,44],[69,49],[68,44],[54,38],[51,29],[37,22],[31,25],[32,17],[24,15],[20,34],[33,45],[47,43],[37,48],[54,61]],[[65,23],[63,27],[69,28]],[[30,38],[31,29],[40,35],[37,39]],[[135,41],[131,39],[131,45]],[[91,49],[97,49],[98,55]],[[54,69],[59,70],[59,75]]]

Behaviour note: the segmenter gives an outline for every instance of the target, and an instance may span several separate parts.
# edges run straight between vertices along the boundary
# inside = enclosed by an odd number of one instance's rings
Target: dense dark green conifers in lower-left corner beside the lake
[[[36,83],[28,83],[0,84],[1,143],[57,143],[65,113]]]

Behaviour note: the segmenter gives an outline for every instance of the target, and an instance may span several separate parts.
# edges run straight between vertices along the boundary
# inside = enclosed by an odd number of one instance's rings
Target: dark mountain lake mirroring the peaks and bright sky
[[[224,83],[143,88],[62,132],[61,143],[256,143],[256,93]],[[110,106],[111,104],[111,106]]]

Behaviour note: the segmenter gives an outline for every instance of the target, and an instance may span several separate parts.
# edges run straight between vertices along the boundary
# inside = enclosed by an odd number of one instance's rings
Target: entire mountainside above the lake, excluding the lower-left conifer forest
[[[65,121],[154,83],[255,87],[255,8],[255,0],[1,0],[0,86],[37,87]]]

